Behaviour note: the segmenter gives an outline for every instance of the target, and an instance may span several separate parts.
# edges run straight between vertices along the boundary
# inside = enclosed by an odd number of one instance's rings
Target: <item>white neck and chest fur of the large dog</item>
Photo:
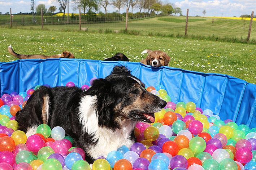
[[[83,133],[87,131],[88,134],[94,135],[94,142],[97,141],[97,144],[88,148],[87,151],[94,159],[97,159],[102,156],[107,157],[110,151],[117,150],[123,145],[130,148],[134,141],[128,138],[135,127],[135,122],[126,120],[123,128],[115,131],[99,127],[95,101],[96,96],[84,96],[79,106],[79,118],[83,125]]]

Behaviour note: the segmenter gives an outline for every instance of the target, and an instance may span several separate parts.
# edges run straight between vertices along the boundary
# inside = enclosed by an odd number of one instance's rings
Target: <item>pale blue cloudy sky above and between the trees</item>
[[[251,15],[252,11],[255,11],[256,15],[256,3],[255,0],[162,0],[163,3],[169,2],[173,3],[176,7],[182,9],[182,14],[186,15],[187,9],[189,9],[189,16],[200,15],[203,16],[203,10],[206,10],[205,17],[239,17],[242,14]],[[0,12],[5,14],[10,12],[12,8],[12,13],[19,12],[31,12],[30,11],[30,0],[0,0]],[[60,5],[53,0],[36,0],[36,6],[38,4],[45,4],[48,9],[50,6],[56,6],[57,9]],[[78,13],[72,8],[73,3],[69,5],[69,13]],[[121,13],[125,12],[126,8],[120,10]],[[117,9],[114,9],[112,6],[108,6],[107,11],[113,12]],[[104,9],[101,9],[104,12]],[[131,10],[129,10],[130,12]],[[57,12],[57,11],[56,11]],[[67,10],[66,10],[67,12]],[[138,12],[138,9],[133,9],[133,12]]]

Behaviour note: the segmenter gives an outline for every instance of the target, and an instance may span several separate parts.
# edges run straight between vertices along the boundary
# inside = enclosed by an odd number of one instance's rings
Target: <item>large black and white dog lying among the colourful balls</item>
[[[134,144],[137,121],[152,123],[165,100],[148,92],[124,66],[115,66],[105,79],[94,80],[87,91],[78,87],[40,86],[17,112],[18,130],[27,136],[40,124],[61,126],[92,164],[110,151]]]

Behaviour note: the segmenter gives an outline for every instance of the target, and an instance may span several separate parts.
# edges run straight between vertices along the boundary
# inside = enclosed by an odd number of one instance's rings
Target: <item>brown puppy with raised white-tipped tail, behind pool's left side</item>
[[[18,59],[47,59],[47,58],[75,58],[75,56],[70,52],[62,52],[61,54],[57,55],[40,55],[40,54],[32,54],[32,55],[24,55],[24,54],[17,54],[13,51],[12,45],[8,46],[8,51],[10,54],[12,54],[14,57],[17,57]]]

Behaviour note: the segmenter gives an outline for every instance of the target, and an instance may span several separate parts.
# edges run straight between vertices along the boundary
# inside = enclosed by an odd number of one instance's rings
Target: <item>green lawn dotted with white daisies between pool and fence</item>
[[[92,33],[0,28],[0,32],[0,62],[17,59],[7,51],[10,44],[20,54],[54,55],[66,50],[76,58],[103,60],[121,52],[131,62],[146,58],[147,54],[140,53],[151,49],[168,53],[171,57],[170,67],[222,73],[251,83],[256,81],[255,44],[182,37],[135,36],[111,31]]]

